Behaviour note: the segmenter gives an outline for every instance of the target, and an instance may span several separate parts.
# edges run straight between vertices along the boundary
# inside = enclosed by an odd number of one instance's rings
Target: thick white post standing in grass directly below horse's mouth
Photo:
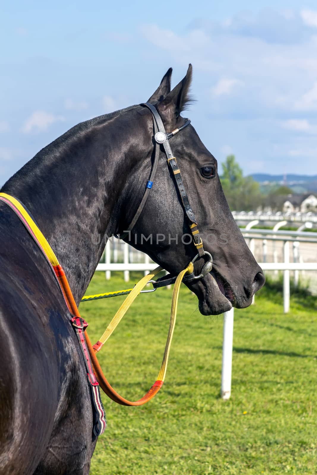
[[[231,395],[232,345],[233,307],[229,312],[223,314],[221,398],[225,400],[229,399]]]

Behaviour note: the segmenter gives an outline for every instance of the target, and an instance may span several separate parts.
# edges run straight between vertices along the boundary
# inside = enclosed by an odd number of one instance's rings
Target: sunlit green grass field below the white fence
[[[96,273],[87,294],[128,288],[122,273]],[[139,275],[131,274],[132,284]],[[131,285],[130,283],[130,285]],[[156,380],[172,291],[140,295],[99,352],[116,390],[139,399]],[[124,297],[81,304],[93,341]],[[182,285],[162,390],[145,406],[103,397],[108,427],[93,475],[317,474],[316,299],[268,285],[256,304],[235,311],[232,395],[220,397],[222,317],[204,317]]]

